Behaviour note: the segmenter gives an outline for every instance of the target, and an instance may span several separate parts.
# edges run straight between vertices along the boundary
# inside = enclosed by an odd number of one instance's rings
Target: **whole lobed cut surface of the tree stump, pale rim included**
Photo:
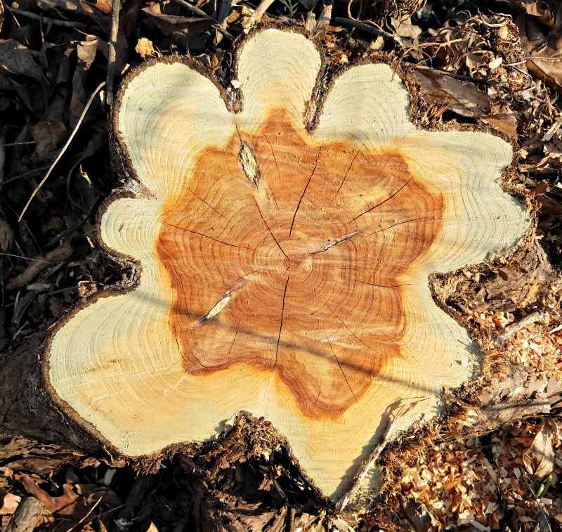
[[[99,237],[136,283],[70,313],[44,368],[58,403],[122,455],[204,441],[247,410],[337,497],[393,408],[425,398],[400,428],[428,420],[473,375],[478,345],[428,279],[528,235],[500,186],[511,145],[420,129],[384,63],[327,87],[322,72],[313,41],[266,28],[238,47],[226,91],[162,58],[119,92],[130,181]]]

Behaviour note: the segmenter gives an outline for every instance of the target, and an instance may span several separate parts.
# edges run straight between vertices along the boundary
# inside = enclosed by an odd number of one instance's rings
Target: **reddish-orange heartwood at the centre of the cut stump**
[[[440,231],[443,202],[399,153],[308,137],[282,111],[244,136],[257,184],[238,134],[204,150],[185,194],[164,205],[157,252],[185,370],[276,372],[303,415],[322,419],[402,356],[401,289]]]

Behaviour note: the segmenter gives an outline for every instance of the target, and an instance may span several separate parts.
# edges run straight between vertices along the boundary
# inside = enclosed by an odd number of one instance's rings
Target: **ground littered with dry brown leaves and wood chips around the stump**
[[[113,89],[96,91],[107,77],[110,0],[0,4],[1,351],[44,334],[81,298],[128,275],[94,238],[97,209],[120,184],[110,161],[107,91],[115,92],[143,60],[173,53],[188,53],[227,79],[233,41],[256,7],[246,0],[124,0],[116,58],[109,61]],[[416,65],[420,122],[488,124],[513,139],[520,148],[518,185],[540,205],[537,243],[555,273],[562,266],[558,0],[277,0],[261,21],[306,25],[324,41],[334,72],[380,52],[404,69]],[[476,279],[467,272],[445,303],[493,337],[542,302],[548,323],[517,332],[508,354],[560,376],[556,309],[562,294],[531,294],[537,271],[523,260],[516,270]],[[521,277],[518,294],[497,288],[513,275]],[[558,414],[554,405],[547,417],[478,438],[437,439],[410,455],[406,450],[399,467],[386,462],[373,509],[351,526],[365,532],[561,530]],[[37,530],[44,531],[346,530],[282,443],[263,453],[256,434],[267,426],[252,423],[235,427],[214,450],[176,456],[152,474],[44,442],[4,439],[2,530],[26,498],[43,504]]]

